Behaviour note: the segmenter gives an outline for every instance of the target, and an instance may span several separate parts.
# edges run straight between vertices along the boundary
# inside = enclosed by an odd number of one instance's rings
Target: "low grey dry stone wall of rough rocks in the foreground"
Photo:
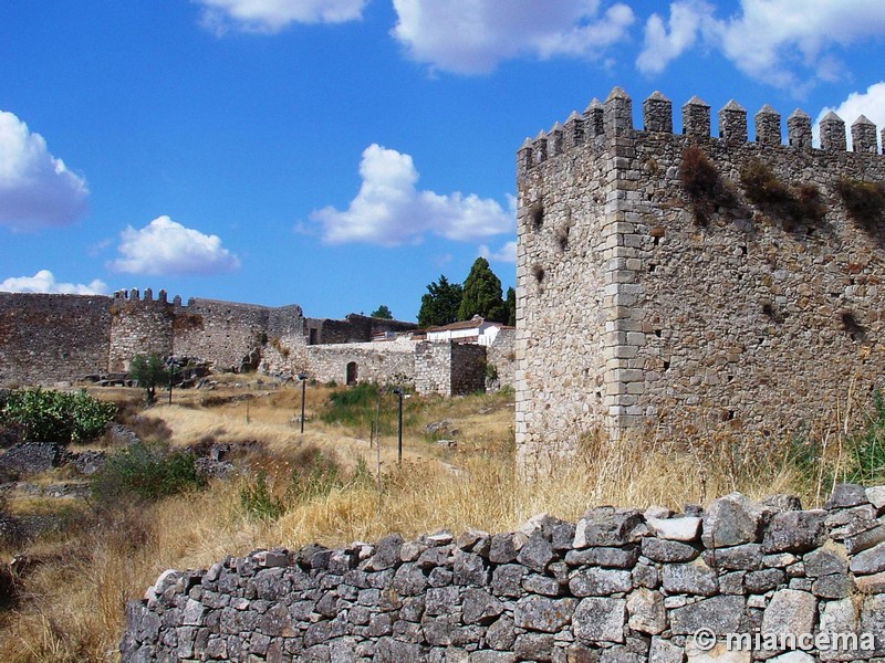
[[[164,572],[128,603],[121,650],[123,661],[883,661],[883,513],[885,487],[842,484],[823,509],[735,493],[676,515],[598,507],[508,534],[259,550]],[[748,639],[743,651],[726,651],[729,633]],[[810,649],[785,653],[805,634]],[[835,634],[856,648],[821,644]]]

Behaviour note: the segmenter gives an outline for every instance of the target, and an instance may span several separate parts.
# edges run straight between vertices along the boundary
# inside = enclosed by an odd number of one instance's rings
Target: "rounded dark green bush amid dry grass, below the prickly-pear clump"
[[[162,443],[136,442],[107,456],[93,475],[92,494],[100,503],[113,505],[159,499],[205,485],[194,454],[169,451]]]

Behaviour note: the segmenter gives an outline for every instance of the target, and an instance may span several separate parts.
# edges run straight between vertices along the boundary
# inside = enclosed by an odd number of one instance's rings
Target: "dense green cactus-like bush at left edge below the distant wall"
[[[116,406],[74,393],[20,389],[6,396],[0,420],[21,431],[27,441],[88,442],[104,432]]]

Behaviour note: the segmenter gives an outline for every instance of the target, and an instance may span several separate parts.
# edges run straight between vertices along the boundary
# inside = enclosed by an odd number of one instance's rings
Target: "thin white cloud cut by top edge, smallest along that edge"
[[[195,0],[200,23],[217,34],[230,29],[274,33],[290,23],[343,23],[360,20],[366,0]]]

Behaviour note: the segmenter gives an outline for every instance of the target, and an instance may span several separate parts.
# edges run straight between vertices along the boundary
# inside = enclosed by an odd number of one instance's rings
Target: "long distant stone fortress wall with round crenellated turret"
[[[304,372],[339,385],[416,385],[423,394],[483,388],[485,348],[431,344],[439,347],[428,354],[419,347],[430,344],[406,336],[372,343],[378,334],[415,328],[360,315],[305,320],[295,305],[199,298],[183,304],[180,297],[169,301],[165,291],[155,297],[149,288],[113,297],[0,293],[0,386],[70,385],[86,376],[123,373],[135,355],[156,354],[208,361],[219,371]],[[512,341],[504,338],[490,348],[490,358],[501,366],[500,385],[512,385],[511,354]],[[426,379],[429,373],[433,380]]]

